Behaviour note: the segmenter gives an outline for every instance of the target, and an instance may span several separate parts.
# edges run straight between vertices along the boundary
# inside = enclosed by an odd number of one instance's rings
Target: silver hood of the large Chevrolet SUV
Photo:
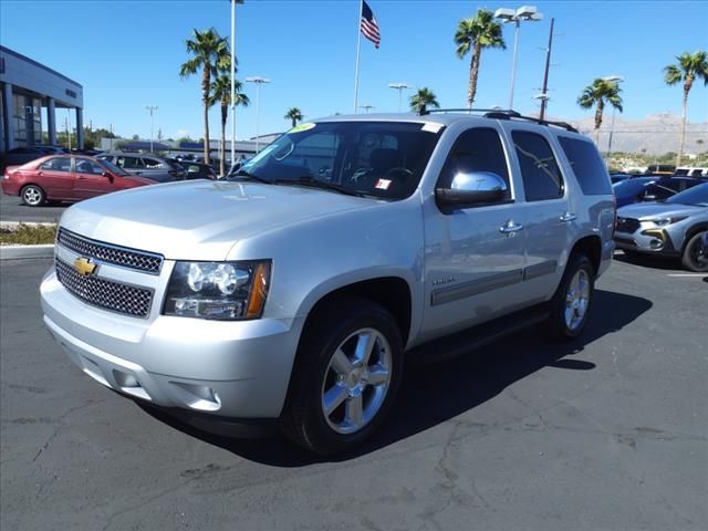
[[[294,186],[187,180],[77,202],[61,226],[166,259],[225,260],[236,242],[259,232],[372,205],[377,202]]]

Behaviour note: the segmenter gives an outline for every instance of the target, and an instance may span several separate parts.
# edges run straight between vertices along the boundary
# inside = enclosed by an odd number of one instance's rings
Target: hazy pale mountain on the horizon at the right
[[[551,118],[554,119],[554,118]],[[559,118],[562,119],[562,118]],[[587,117],[581,121],[568,121],[582,133],[595,138],[594,118]],[[612,125],[612,111],[603,116],[602,127],[597,145],[601,152],[607,150],[610,128]],[[681,117],[674,113],[656,113],[644,119],[625,119],[617,113],[615,117],[614,133],[612,137],[613,152],[642,153],[647,155],[663,155],[668,152],[678,152],[680,142]],[[704,140],[697,144],[696,140]],[[695,154],[708,150],[708,122],[688,123],[686,125],[686,144],[684,153]]]

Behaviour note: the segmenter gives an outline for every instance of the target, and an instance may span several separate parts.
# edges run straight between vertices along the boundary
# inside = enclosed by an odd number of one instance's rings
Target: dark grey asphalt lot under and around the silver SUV
[[[708,529],[708,283],[671,263],[615,261],[574,343],[409,367],[394,418],[327,461],[84,376],[41,322],[49,267],[0,264],[3,531]]]

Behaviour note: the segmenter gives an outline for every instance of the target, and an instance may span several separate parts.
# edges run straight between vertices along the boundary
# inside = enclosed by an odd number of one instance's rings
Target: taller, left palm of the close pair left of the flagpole
[[[204,162],[209,164],[209,90],[211,74],[231,67],[229,44],[214,28],[194,30],[187,39],[187,52],[192,55],[179,67],[179,76],[188,77],[201,69],[201,102],[204,104]]]

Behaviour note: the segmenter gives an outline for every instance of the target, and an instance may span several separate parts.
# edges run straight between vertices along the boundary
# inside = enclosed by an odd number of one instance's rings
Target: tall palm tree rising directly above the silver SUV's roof
[[[467,92],[467,103],[472,108],[475,95],[477,94],[477,77],[479,76],[479,62],[485,48],[506,49],[501,37],[501,25],[494,22],[491,11],[479,9],[477,17],[460,20],[455,32],[455,44],[457,44],[457,55],[465,59],[471,50],[472,59],[469,64],[469,88]]]

